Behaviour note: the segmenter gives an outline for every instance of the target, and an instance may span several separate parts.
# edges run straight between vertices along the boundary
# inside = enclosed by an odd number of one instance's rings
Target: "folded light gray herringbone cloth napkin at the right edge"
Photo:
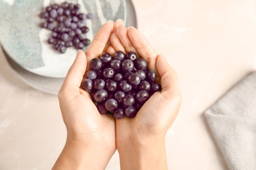
[[[256,169],[256,72],[204,113],[229,169]]]

